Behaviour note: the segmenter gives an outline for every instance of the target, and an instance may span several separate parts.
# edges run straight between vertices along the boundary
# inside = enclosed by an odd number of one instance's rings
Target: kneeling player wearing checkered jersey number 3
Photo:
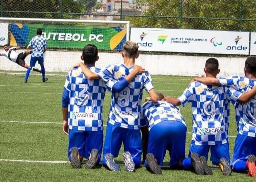
[[[95,67],[95,62],[99,59],[95,45],[85,46],[81,59],[94,73],[100,71]],[[144,69],[136,66],[127,77],[133,78],[141,72]],[[116,83],[117,87],[119,84]],[[85,164],[87,169],[100,162],[105,90],[106,84],[103,80],[87,79],[80,67],[73,68],[68,73],[62,96],[63,132],[69,137],[68,158],[74,168],[81,166],[83,157],[89,158]]]

